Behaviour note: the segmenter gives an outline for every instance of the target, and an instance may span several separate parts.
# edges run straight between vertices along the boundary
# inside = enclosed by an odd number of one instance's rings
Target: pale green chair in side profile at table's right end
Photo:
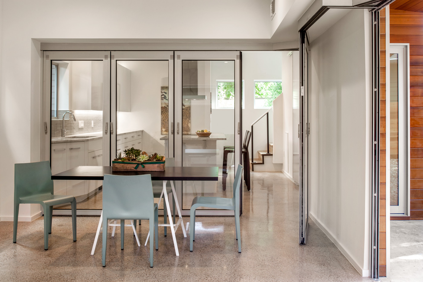
[[[241,185],[241,175],[243,167],[239,164],[236,169],[233,181],[233,197],[207,197],[196,196],[192,200],[190,210],[190,252],[192,252],[193,241],[195,240],[195,209],[198,207],[214,207],[222,210],[233,210],[235,212],[235,234],[238,240],[238,252],[241,252],[241,229],[239,225],[239,186]]]

